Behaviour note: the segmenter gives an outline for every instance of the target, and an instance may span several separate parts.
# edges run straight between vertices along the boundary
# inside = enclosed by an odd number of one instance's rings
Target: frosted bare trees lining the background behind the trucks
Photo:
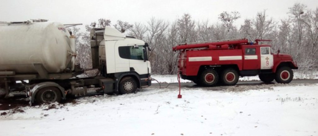
[[[152,17],[147,23],[128,23],[118,20],[112,25],[109,19],[101,18],[86,25],[86,32],[76,35],[77,62],[85,69],[91,67],[90,29],[112,26],[127,36],[148,42],[152,73],[176,74],[177,52],[172,47],[182,43],[240,39],[269,39],[273,53],[280,50],[293,56],[299,66],[299,73],[316,76],[318,71],[318,8],[308,9],[306,5],[295,3],[288,8],[287,19],[279,21],[268,17],[266,10],[257,12],[253,18],[245,19],[239,27],[234,25],[241,16],[237,11],[224,11],[218,15],[218,22],[196,21],[190,14],[183,14],[175,21]],[[264,43],[260,43],[264,44]]]

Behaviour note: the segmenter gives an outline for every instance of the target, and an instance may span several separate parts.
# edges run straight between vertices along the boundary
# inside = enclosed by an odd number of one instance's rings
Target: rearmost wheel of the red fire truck
[[[201,73],[199,83],[202,86],[215,86],[218,83],[218,73],[213,69],[206,69]]]

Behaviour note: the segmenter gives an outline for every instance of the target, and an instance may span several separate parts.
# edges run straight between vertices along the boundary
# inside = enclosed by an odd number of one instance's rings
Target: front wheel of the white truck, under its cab
[[[124,77],[119,82],[119,93],[129,94],[137,90],[137,82],[133,77]]]

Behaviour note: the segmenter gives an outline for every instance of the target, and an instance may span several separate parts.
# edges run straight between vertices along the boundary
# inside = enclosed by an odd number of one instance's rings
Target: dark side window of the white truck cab
[[[144,60],[142,48],[143,46],[139,46],[138,49],[134,46],[121,46],[118,48],[119,56],[123,59]]]

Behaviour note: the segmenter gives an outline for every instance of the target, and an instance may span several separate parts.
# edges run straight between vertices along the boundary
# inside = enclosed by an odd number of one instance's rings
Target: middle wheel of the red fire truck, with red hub
[[[224,85],[235,85],[239,81],[239,74],[236,70],[229,68],[222,72],[221,83]]]

